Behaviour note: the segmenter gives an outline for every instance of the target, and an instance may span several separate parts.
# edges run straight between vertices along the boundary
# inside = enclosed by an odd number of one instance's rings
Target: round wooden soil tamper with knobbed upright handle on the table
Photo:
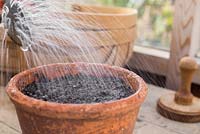
[[[200,122],[200,99],[191,93],[191,83],[198,64],[190,57],[180,61],[181,87],[175,93],[166,94],[158,100],[157,111],[166,118],[181,122]]]

